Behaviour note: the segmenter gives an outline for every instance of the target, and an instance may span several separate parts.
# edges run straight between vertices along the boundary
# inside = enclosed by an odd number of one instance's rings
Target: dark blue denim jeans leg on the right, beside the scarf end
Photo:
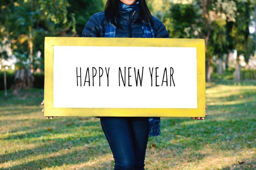
[[[134,170],[144,170],[148,143],[148,117],[132,117],[132,141],[135,152]]]

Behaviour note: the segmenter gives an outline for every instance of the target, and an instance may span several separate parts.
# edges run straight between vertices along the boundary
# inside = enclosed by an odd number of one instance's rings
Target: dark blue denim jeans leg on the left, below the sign
[[[135,154],[130,118],[101,117],[101,126],[115,159],[114,170],[134,170]]]

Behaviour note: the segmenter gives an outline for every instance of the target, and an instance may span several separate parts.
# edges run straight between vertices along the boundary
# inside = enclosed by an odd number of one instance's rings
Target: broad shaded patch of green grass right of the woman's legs
[[[205,144],[216,147],[218,150],[253,147],[255,118],[222,121],[182,120],[182,123],[177,123],[177,119],[171,119],[171,121],[176,123],[170,124],[170,119],[162,121],[162,137],[159,139],[161,148],[185,149],[193,146],[194,150],[199,150]],[[200,122],[192,123],[192,121]]]

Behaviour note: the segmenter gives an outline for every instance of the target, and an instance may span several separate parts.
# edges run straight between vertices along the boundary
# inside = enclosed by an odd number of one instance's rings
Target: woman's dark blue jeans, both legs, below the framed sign
[[[115,159],[114,170],[144,170],[148,117],[101,117]]]

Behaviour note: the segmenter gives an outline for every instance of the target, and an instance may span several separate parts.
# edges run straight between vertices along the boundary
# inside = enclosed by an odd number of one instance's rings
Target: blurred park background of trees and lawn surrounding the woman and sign
[[[105,4],[0,0],[1,170],[112,169],[99,119],[46,120],[40,111],[44,38],[79,37],[88,18],[103,11]],[[205,40],[209,116],[204,121],[162,118],[161,137],[148,142],[146,169],[256,169],[256,1],[147,4],[171,38]]]

